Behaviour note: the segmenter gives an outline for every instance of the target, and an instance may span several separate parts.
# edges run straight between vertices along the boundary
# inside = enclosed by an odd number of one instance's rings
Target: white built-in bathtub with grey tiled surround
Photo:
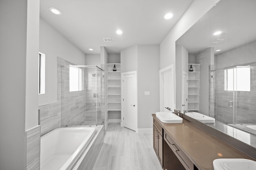
[[[69,170],[95,133],[94,127],[57,128],[41,137],[40,170]]]

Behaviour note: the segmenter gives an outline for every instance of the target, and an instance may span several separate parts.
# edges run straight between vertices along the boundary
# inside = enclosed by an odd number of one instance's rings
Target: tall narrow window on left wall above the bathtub
[[[38,55],[38,94],[45,93],[45,54]]]

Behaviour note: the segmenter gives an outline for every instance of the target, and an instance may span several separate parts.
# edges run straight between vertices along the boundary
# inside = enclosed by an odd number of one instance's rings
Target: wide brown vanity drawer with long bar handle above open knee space
[[[186,154],[184,154],[184,152],[182,152],[182,150],[180,150],[174,140],[172,140],[172,138],[168,134],[166,134],[166,132],[164,132],[164,140],[174,152],[174,154],[177,156],[177,158],[180,160],[184,168],[186,168],[186,170],[193,170],[193,162],[186,156]]]

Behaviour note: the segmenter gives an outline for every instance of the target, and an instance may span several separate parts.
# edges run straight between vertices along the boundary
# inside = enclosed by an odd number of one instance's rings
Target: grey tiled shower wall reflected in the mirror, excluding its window
[[[236,115],[234,119],[237,124],[256,124],[256,70],[250,69],[250,91],[224,91],[224,70],[212,72],[214,89],[211,94],[214,109],[210,109],[210,113],[214,110],[214,117],[217,121],[226,124],[233,123],[233,107],[228,107],[228,101],[233,101],[233,95],[237,98]],[[212,96],[214,95],[214,96]]]

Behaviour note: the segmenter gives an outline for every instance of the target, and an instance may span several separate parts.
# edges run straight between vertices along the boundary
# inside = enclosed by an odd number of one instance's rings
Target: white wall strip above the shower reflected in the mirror
[[[256,62],[256,41],[215,55],[215,69]]]

